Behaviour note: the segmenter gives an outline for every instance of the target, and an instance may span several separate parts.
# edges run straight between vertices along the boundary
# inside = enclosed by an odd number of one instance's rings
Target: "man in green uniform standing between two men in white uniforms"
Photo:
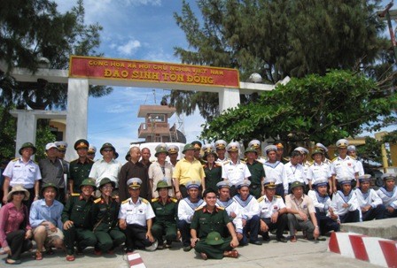
[[[255,198],[260,198],[264,195],[265,190],[263,188],[263,180],[265,180],[265,170],[263,169],[263,164],[256,160],[258,156],[258,151],[253,147],[248,147],[245,149],[246,166],[251,172],[250,194],[255,196]]]

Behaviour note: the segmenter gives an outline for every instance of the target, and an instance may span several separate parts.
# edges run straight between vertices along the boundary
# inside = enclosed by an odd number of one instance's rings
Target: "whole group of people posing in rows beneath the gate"
[[[131,252],[167,249],[175,241],[203,259],[238,257],[237,246],[261,245],[270,234],[296,242],[302,231],[307,240],[322,241],[340,223],[397,217],[395,174],[384,174],[384,187],[375,191],[355,147],[345,139],[336,146],[339,156],[329,160],[317,143],[310,162],[303,147],[284,158],[281,142],[266,146],[262,156],[261,142],[253,140],[244,159],[238,142],[191,142],[179,160],[177,146],[160,144],[151,162],[150,149],[133,145],[121,165],[111,143],[94,162],[81,139],[74,161],[63,159],[67,145],[58,142],[46,145],[47,158],[37,165],[31,160],[36,148],[27,142],[3,172],[5,262],[19,264],[32,239],[36,260],[54,248],[74,261],[87,247],[100,256],[122,244]]]

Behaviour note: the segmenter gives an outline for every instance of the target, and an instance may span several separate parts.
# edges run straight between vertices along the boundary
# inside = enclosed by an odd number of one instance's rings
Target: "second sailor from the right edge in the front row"
[[[361,210],[362,221],[385,218],[385,205],[377,192],[370,188],[370,175],[361,175],[358,180],[360,187],[355,189],[355,195]]]

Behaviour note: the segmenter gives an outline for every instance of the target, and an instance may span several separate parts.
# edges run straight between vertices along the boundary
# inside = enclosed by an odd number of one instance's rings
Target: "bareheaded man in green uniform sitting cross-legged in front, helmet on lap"
[[[197,209],[191,219],[191,247],[205,260],[208,257],[215,259],[238,257],[238,252],[234,249],[238,246],[236,230],[228,213],[215,206],[214,190],[206,189],[203,197],[206,205]],[[218,244],[214,241],[222,241],[222,243]]]

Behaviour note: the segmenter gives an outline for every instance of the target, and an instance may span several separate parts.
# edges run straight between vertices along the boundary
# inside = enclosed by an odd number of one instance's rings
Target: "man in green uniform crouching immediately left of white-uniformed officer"
[[[126,241],[126,236],[118,226],[120,204],[112,197],[114,187],[114,181],[108,178],[102,179],[99,183],[101,196],[92,205],[92,231],[97,237],[94,253],[97,256],[104,252],[113,254],[113,250]]]

